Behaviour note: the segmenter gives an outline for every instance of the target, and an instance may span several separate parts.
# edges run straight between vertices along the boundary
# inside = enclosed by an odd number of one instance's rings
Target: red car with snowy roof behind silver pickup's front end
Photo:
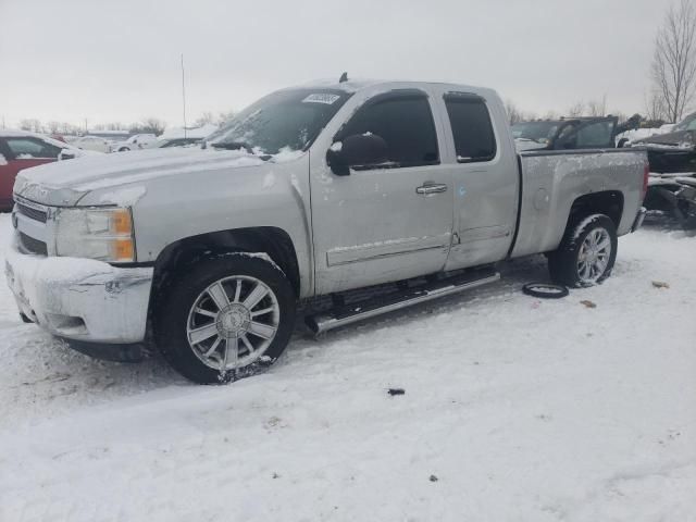
[[[75,147],[40,134],[0,130],[0,211],[12,210],[12,187],[20,171],[83,153]]]

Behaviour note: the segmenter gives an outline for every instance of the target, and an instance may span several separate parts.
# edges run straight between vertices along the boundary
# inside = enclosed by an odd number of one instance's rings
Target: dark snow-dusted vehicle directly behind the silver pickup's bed
[[[617,116],[539,120],[512,125],[519,150],[613,149],[623,132]]]

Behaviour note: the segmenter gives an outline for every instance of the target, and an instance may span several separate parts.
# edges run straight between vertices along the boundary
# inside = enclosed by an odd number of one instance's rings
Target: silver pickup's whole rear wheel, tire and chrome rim
[[[570,226],[560,246],[548,257],[551,279],[580,288],[594,286],[611,274],[617,259],[617,227],[605,214],[593,214]]]

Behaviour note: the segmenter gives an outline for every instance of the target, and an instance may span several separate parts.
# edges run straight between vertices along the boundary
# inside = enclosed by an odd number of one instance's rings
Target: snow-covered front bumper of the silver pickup
[[[152,272],[15,247],[5,260],[8,284],[26,318],[59,337],[98,344],[145,339]]]

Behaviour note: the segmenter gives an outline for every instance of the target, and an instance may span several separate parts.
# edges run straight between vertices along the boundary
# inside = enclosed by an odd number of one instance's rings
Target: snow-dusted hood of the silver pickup
[[[296,159],[300,151],[282,151],[270,162]],[[92,190],[122,187],[177,174],[258,166],[266,163],[238,150],[171,148],[99,154],[59,161],[22,171],[14,194],[37,203],[73,207]]]

